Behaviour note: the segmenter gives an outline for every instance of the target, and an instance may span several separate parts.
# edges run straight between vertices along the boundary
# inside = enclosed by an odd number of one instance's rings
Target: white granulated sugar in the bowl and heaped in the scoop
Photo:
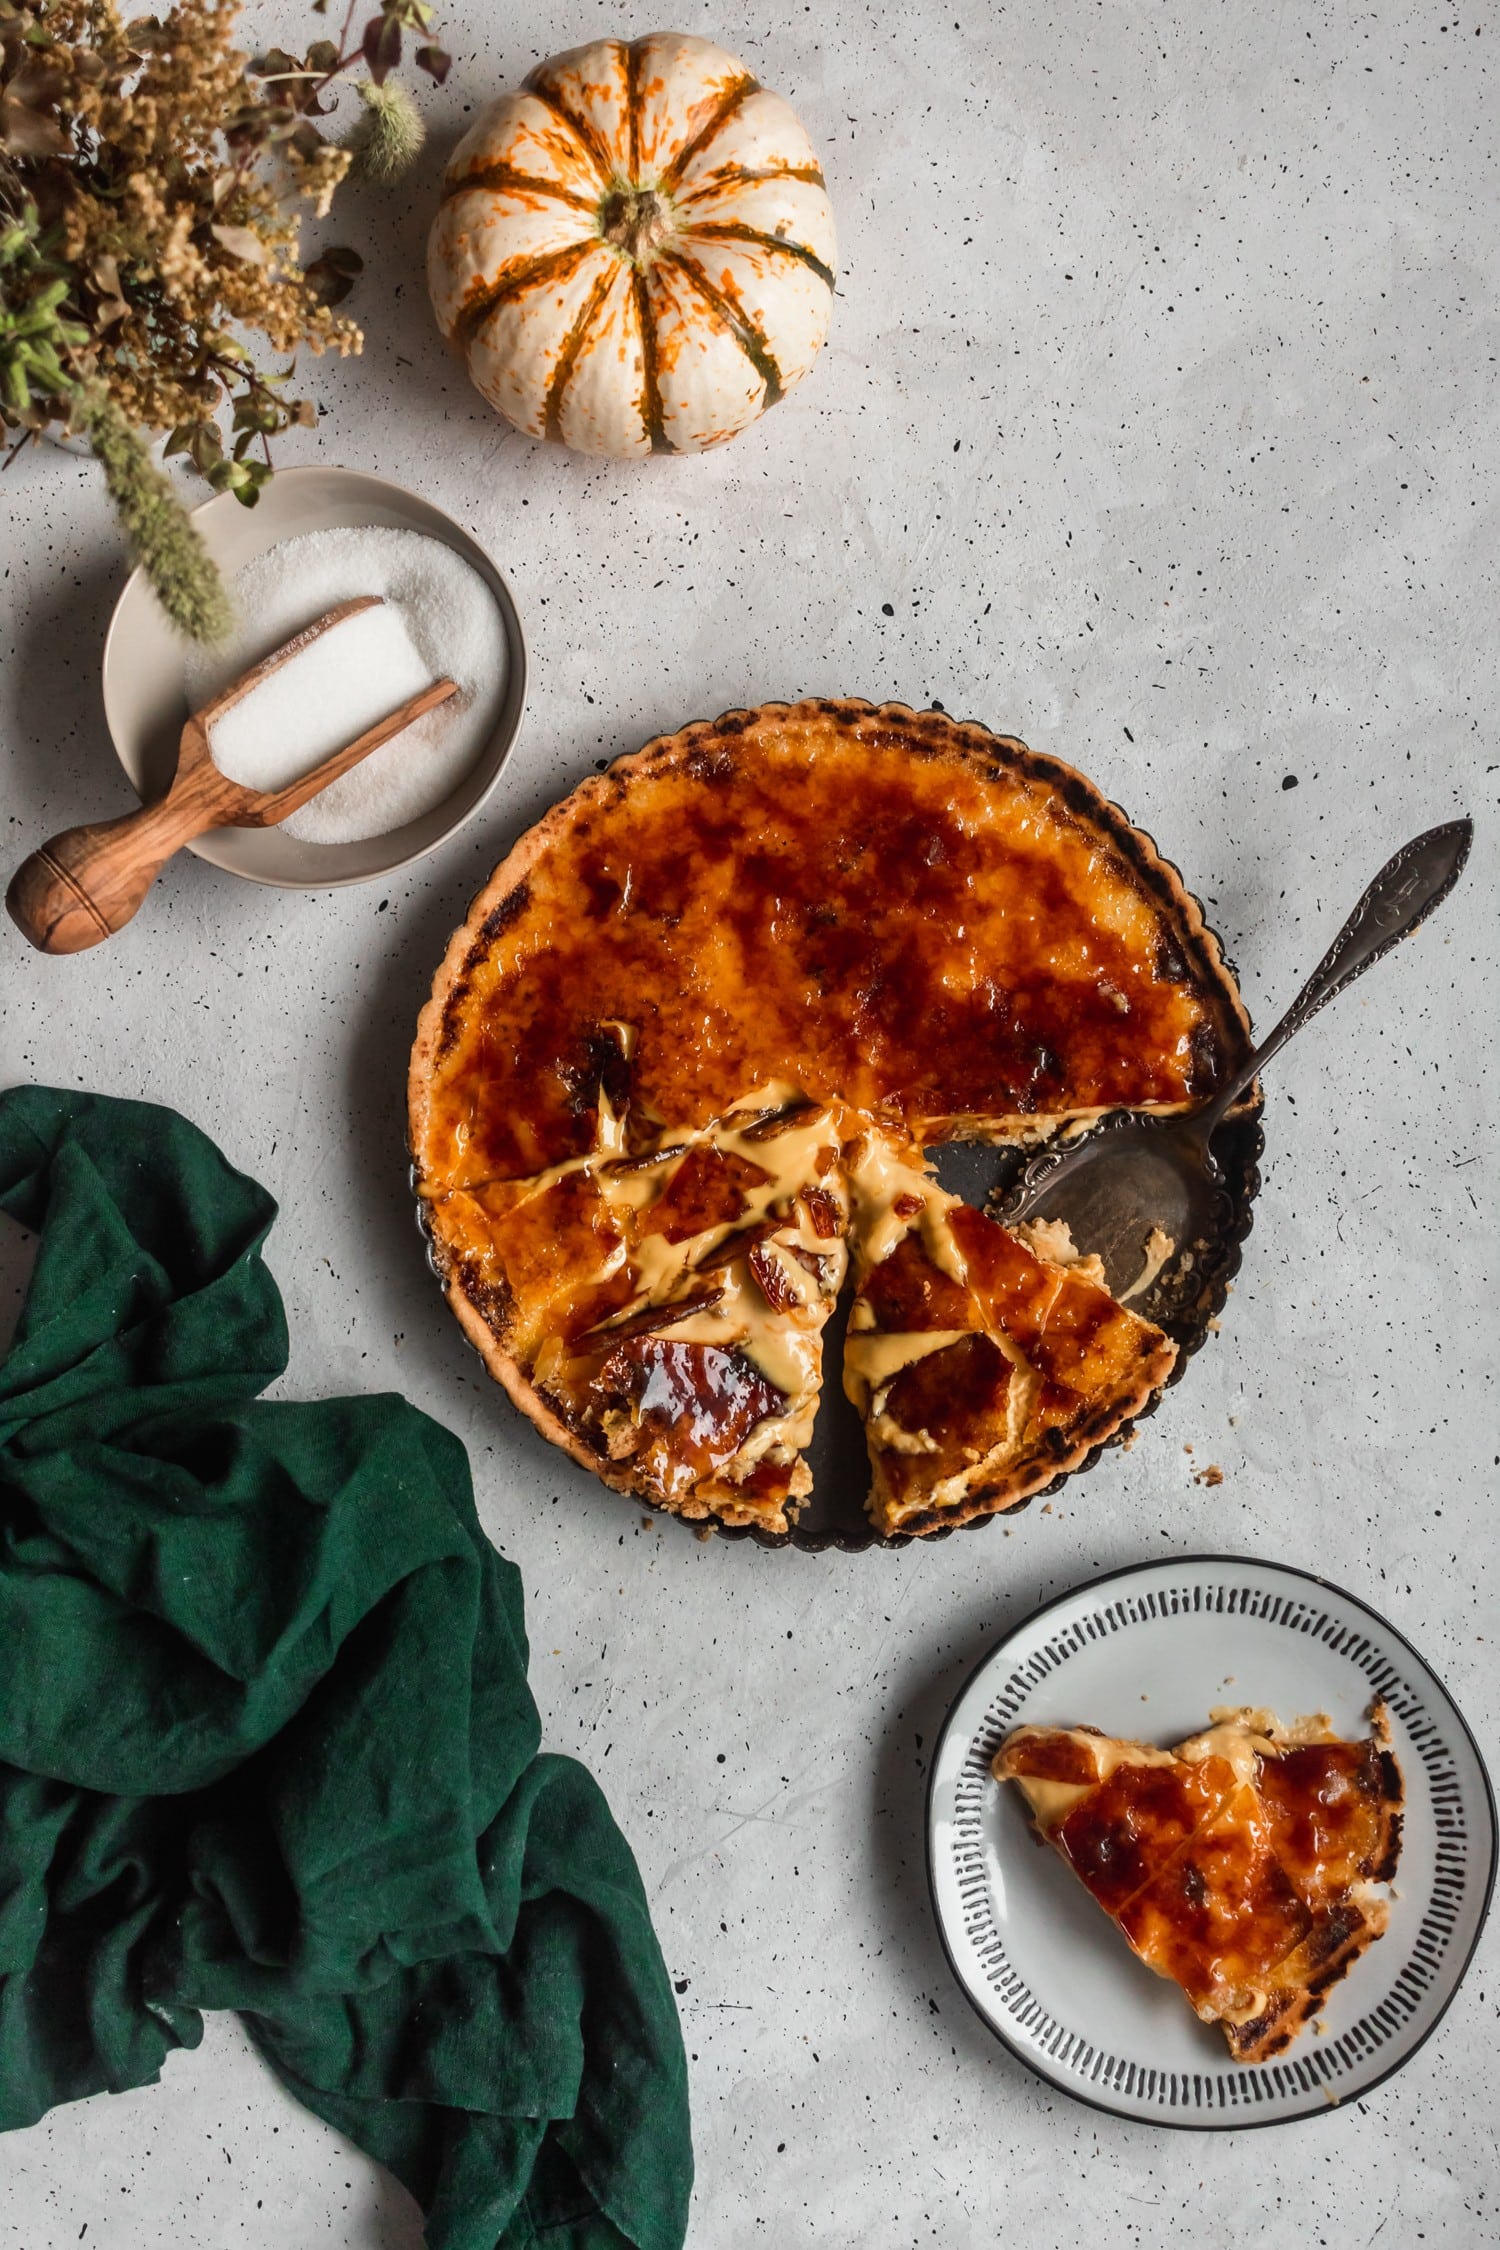
[[[378,524],[313,531],[247,562],[234,578],[241,632],[187,655],[191,709],[358,594],[385,605],[331,628],[218,722],[214,758],[229,781],[277,790],[430,680],[454,680],[459,693],[295,812],[286,835],[304,844],[389,835],[441,803],[493,736],[504,700],[506,632],[479,572],[443,540]]]

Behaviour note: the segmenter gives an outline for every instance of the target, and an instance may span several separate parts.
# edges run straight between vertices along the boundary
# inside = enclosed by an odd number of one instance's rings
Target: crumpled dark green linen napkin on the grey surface
[[[234,2007],[432,2250],[677,2250],[681,2034],[641,1879],[537,1755],[459,1440],[286,1368],[277,1206],[171,1109],[0,1096],[40,1233],[0,1364],[0,2128]]]

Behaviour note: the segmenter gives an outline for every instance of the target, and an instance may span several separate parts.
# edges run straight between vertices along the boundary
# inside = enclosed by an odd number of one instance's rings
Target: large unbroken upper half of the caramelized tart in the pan
[[[443,997],[427,1192],[688,1130],[792,1080],[924,1143],[1208,1096],[1210,947],[1066,767],[936,713],[738,713],[585,783]]]

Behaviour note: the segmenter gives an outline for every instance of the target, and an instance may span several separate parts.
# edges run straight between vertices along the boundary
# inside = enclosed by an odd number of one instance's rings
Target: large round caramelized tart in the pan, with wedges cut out
[[[870,1514],[938,1530],[1082,1462],[1174,1346],[927,1152],[1196,1105],[1246,1035],[1176,873],[1070,767],[767,704],[618,760],[497,868],[418,1024],[414,1181],[510,1397],[695,1519],[787,1530],[852,1264]],[[963,1316],[893,1325],[918,1253]]]

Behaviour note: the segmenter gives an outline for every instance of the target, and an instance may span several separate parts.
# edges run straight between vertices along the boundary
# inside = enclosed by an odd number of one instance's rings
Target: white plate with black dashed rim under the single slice
[[[1169,1746],[1244,1703],[1286,1721],[1327,1710],[1354,1737],[1376,1696],[1406,1778],[1390,1928],[1266,2063],[1232,2061],[1136,1960],[990,1773],[1021,1724]],[[1442,2020],[1489,1908],[1496,1798],[1457,1706],[1385,1618],[1304,1570],[1196,1555],[1075,1586],[978,1665],[933,1755],[927,1868],[954,1976],[1037,2077],[1142,2124],[1284,2124],[1370,2092]]]

